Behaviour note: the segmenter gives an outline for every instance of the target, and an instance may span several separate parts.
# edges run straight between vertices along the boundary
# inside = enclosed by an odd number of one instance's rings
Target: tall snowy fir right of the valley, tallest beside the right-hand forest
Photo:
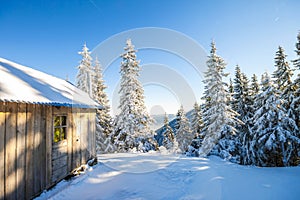
[[[216,54],[215,43],[212,42],[204,79],[206,108],[203,122],[206,128],[203,144],[199,150],[200,156],[208,155],[214,147],[214,152],[222,157],[230,158],[237,154],[234,135],[239,120],[236,118],[238,114],[230,108],[231,96],[227,84],[222,80],[227,76],[223,72],[225,66],[224,60]]]

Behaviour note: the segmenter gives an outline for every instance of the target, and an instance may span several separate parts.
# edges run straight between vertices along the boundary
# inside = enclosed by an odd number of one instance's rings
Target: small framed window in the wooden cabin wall
[[[55,116],[53,125],[53,142],[65,140],[67,136],[67,116]]]

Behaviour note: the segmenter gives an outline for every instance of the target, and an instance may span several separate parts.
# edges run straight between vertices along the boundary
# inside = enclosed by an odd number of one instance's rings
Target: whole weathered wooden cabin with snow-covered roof
[[[0,199],[31,199],[95,157],[97,107],[71,83],[0,58]]]

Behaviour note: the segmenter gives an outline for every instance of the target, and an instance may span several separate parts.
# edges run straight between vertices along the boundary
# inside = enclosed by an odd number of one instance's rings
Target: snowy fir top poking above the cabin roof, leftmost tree
[[[76,86],[82,91],[88,93],[92,97],[92,57],[86,44],[83,45],[82,51],[78,52],[82,56],[76,76]]]

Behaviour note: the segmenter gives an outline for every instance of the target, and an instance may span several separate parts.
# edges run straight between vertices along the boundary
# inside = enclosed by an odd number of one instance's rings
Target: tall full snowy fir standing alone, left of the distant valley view
[[[118,151],[149,151],[157,148],[154,132],[150,130],[150,118],[144,91],[138,80],[141,67],[131,40],[126,42],[121,55],[120,114],[114,121],[113,137]]]

